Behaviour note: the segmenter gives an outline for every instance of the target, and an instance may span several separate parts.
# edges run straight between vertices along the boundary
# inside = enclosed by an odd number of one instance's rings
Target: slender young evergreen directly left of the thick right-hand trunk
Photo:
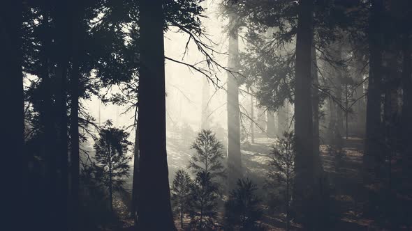
[[[295,138],[293,132],[285,132],[284,138],[279,139],[279,143],[273,146],[270,153],[269,173],[267,173],[267,189],[280,189],[278,195],[284,199],[285,214],[286,214],[286,230],[290,226],[290,200],[293,190],[293,180],[295,178]],[[273,193],[276,194],[276,193]]]

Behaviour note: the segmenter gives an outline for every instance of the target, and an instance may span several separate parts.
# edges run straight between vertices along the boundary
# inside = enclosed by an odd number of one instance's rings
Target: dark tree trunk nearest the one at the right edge
[[[369,19],[369,82],[367,90],[367,120],[365,137],[365,170],[378,170],[383,162],[381,153],[381,81],[382,81],[382,32],[380,17],[383,13],[383,0],[372,1]]]

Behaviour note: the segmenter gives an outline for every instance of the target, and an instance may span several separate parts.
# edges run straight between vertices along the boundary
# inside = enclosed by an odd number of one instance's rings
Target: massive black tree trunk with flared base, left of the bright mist
[[[163,1],[140,3],[139,183],[140,230],[176,230],[170,206],[165,123]],[[161,221],[161,222],[159,222]]]

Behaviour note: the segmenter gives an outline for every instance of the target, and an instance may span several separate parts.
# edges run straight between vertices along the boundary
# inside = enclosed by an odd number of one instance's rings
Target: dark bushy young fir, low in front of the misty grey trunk
[[[236,185],[225,203],[226,228],[241,225],[244,230],[256,230],[256,221],[262,216],[255,194],[258,187],[249,179],[239,179]]]

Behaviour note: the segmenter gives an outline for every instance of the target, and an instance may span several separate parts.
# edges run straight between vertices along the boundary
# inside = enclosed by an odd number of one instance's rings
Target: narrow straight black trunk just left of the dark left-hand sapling
[[[79,85],[80,85],[80,19],[82,6],[80,1],[73,1],[71,5],[71,113],[70,113],[70,138],[71,138],[71,229],[79,228],[79,174],[80,174],[80,144],[79,144]],[[99,118],[100,119],[100,118]]]

